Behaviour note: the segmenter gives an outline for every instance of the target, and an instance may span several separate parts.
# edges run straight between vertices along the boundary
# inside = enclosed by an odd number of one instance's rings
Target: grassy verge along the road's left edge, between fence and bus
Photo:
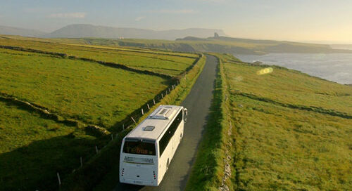
[[[174,91],[165,95],[163,100],[157,105],[151,107],[151,110],[144,114],[144,117],[139,119],[137,123],[142,121],[150,114],[158,105],[179,105],[191,91],[191,87],[196,82],[196,79],[201,74],[205,65],[206,57],[202,57],[194,65],[194,67],[180,78],[180,84],[176,86]],[[82,169],[70,175],[63,181],[61,190],[111,190],[118,183],[118,165],[120,144],[122,138],[132,130],[126,129],[118,134],[112,143],[103,148],[99,154],[89,161]]]

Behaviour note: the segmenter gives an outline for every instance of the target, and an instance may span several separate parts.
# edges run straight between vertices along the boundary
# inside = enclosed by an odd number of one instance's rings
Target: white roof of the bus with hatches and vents
[[[145,138],[157,140],[175,114],[182,109],[177,105],[160,105],[142,123],[138,124],[126,138]],[[150,131],[151,130],[151,131]]]

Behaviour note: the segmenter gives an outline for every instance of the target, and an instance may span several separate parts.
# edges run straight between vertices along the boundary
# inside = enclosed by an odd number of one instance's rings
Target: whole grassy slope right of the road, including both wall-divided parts
[[[352,187],[352,88],[222,57],[234,124],[234,190]],[[261,71],[261,72],[260,72]]]

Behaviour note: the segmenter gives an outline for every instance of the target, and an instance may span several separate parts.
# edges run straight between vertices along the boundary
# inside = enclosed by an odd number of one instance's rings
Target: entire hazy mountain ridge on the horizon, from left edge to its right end
[[[175,40],[187,36],[206,38],[213,36],[217,32],[226,36],[222,29],[188,28],[188,29],[168,29],[153,30],[139,29],[133,27],[108,27],[89,24],[66,25],[53,32],[41,32],[35,29],[25,29],[20,27],[0,26],[0,34],[20,35],[23,37],[39,38],[105,38],[105,39],[164,39]]]

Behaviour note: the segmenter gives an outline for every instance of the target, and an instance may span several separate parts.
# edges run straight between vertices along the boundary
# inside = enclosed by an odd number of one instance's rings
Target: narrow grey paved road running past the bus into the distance
[[[188,121],[184,126],[184,138],[177,148],[161,185],[158,187],[118,184],[115,190],[184,190],[191,166],[194,164],[196,150],[201,141],[204,126],[213,98],[214,80],[218,62],[215,57],[207,55],[206,65],[199,75],[191,92],[182,105],[189,111]]]

